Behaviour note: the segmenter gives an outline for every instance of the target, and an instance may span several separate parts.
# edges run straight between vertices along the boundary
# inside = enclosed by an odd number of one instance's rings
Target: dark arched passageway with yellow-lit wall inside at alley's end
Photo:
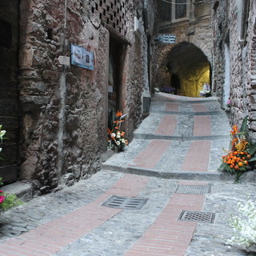
[[[194,44],[181,42],[162,56],[157,76],[160,90],[198,97],[203,83],[210,84],[210,62]]]

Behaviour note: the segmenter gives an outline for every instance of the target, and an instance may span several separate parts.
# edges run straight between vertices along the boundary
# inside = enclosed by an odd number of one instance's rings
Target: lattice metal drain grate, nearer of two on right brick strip
[[[179,220],[187,222],[214,223],[215,214],[202,211],[182,210]]]

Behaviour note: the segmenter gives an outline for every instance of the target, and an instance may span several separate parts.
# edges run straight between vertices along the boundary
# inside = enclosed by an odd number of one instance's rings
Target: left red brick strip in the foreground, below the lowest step
[[[110,195],[136,196],[149,178],[126,174],[94,202],[45,225],[38,226],[18,238],[0,244],[1,256],[49,256],[88,234],[122,210],[101,206]]]

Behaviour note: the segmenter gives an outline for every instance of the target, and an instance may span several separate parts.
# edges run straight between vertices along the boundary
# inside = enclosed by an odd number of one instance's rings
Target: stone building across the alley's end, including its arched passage
[[[158,61],[155,86],[171,87],[175,94],[198,97],[202,84],[211,82],[211,1],[158,1],[159,30],[174,42],[156,38]]]

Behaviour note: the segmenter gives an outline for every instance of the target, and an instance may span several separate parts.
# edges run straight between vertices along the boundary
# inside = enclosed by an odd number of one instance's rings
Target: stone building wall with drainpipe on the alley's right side
[[[230,122],[249,116],[250,137],[256,140],[256,2],[213,3],[213,84],[222,101],[230,98]]]

